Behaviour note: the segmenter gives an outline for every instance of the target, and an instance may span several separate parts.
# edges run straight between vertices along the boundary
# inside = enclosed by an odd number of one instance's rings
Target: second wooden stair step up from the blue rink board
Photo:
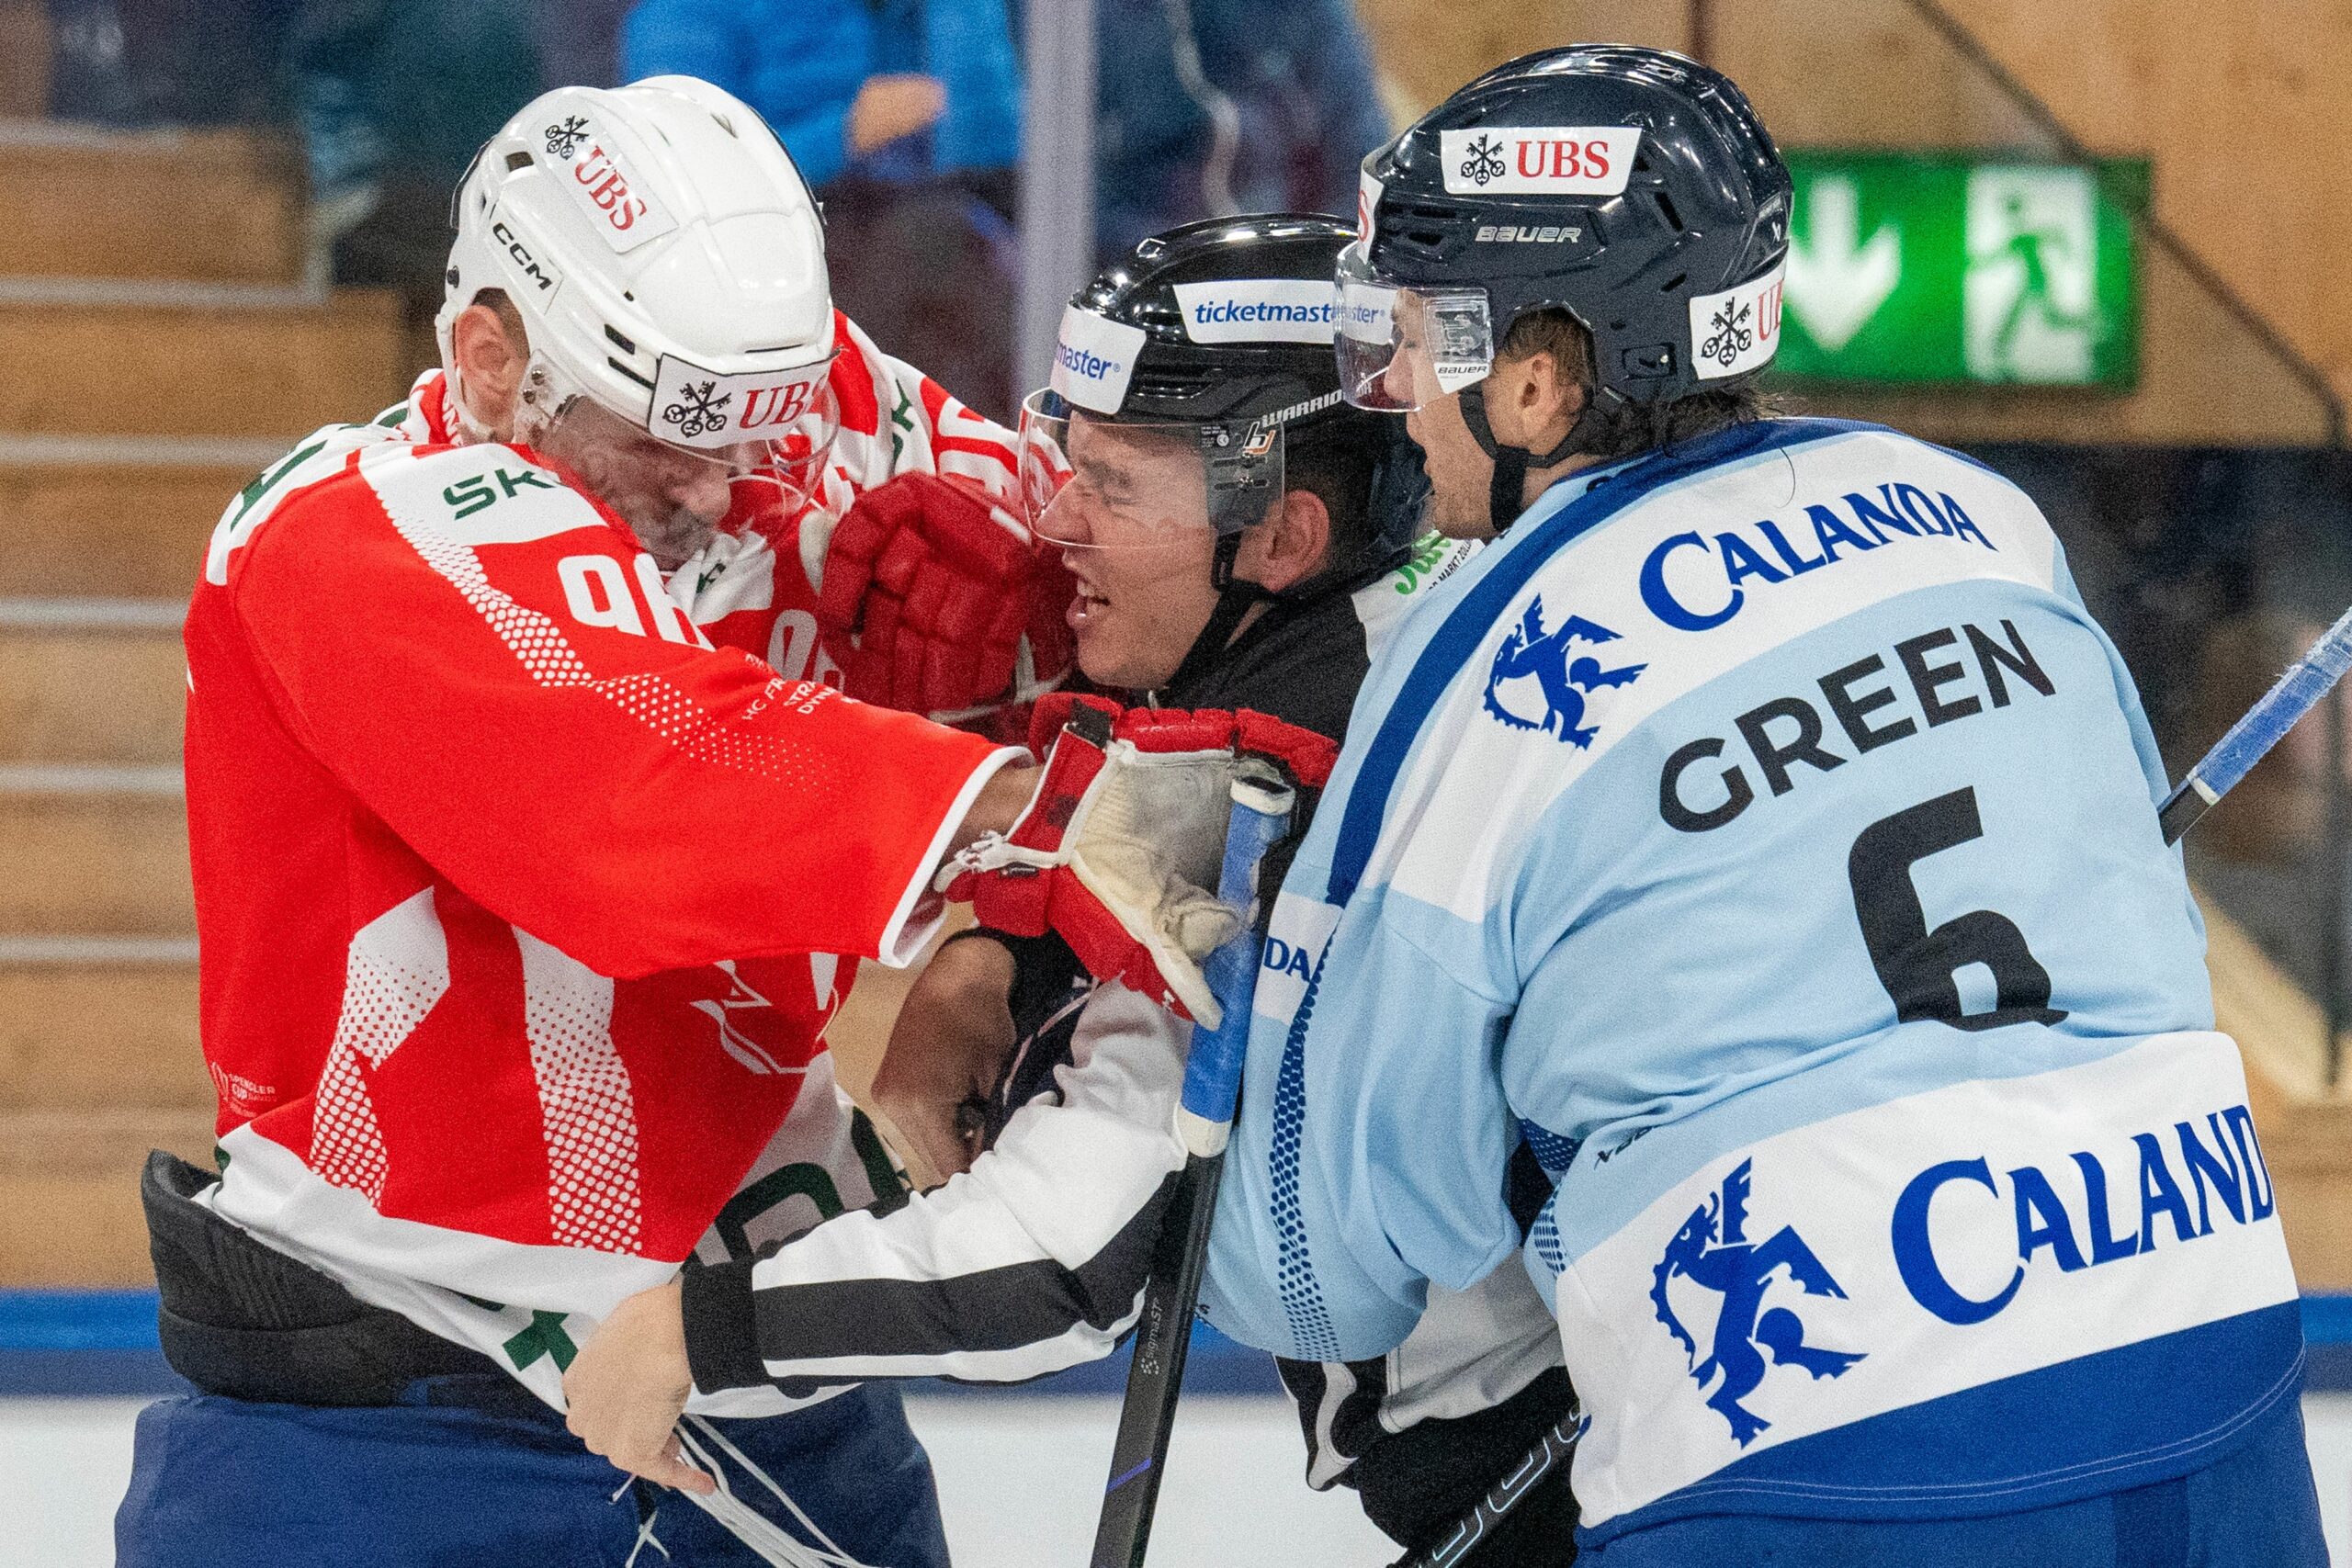
[[[212,1110],[195,943],[0,938],[0,1114]]]

